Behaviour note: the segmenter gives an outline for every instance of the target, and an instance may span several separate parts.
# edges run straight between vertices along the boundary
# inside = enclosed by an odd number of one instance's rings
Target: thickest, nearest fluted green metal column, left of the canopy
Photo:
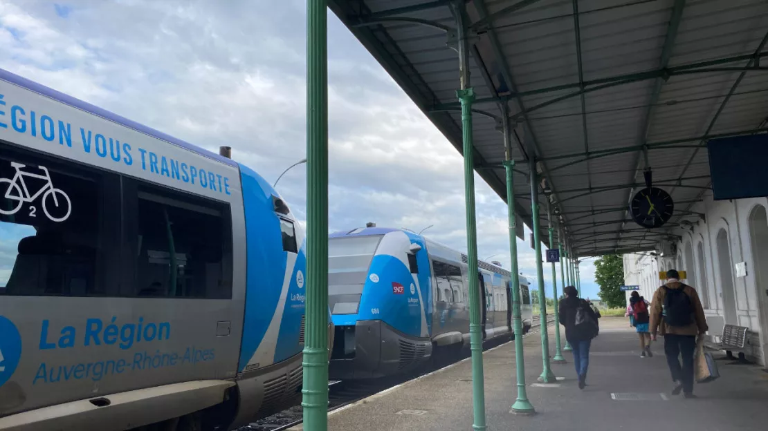
[[[306,4],[306,343],[304,429],[328,429],[328,15]]]

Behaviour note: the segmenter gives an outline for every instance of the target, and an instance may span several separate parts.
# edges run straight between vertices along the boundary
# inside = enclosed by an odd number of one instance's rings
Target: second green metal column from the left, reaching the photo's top
[[[467,266],[469,279],[469,346],[472,351],[473,429],[485,430],[485,384],[482,370],[482,329],[480,319],[480,283],[478,275],[477,226],[475,225],[475,148],[472,145],[472,101],[475,91],[469,85],[469,44],[467,13],[463,0],[451,3],[458,31],[459,90],[462,103],[462,152],[464,153],[464,197],[467,221]]]

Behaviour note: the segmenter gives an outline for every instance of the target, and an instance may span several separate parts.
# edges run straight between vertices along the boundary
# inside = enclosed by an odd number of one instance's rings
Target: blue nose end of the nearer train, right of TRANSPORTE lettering
[[[276,191],[240,166],[247,232],[247,290],[233,425],[300,402],[306,326],[306,241]],[[333,322],[328,314],[329,342]]]

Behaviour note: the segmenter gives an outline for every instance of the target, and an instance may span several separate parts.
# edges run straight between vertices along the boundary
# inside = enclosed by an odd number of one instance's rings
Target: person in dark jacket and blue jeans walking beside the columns
[[[584,389],[587,386],[589,348],[592,338],[598,334],[598,317],[587,301],[578,297],[576,288],[566,286],[563,291],[565,298],[559,304],[560,324],[565,327],[565,339],[573,349],[578,387]]]

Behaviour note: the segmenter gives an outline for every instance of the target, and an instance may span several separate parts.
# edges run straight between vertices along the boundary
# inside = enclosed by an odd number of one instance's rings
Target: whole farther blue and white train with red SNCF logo
[[[330,235],[329,305],[336,335],[329,377],[386,377],[469,344],[468,280],[477,277],[484,340],[509,337],[511,273],[403,229],[369,226]],[[524,331],[528,281],[520,277]]]

